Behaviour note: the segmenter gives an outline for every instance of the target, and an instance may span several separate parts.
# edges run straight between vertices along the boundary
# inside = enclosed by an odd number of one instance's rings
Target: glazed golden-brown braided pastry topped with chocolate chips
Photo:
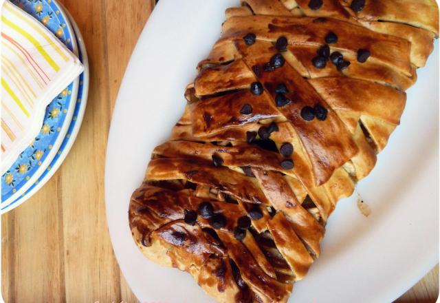
[[[434,0],[245,0],[131,197],[147,258],[219,302],[286,302],[373,169],[438,35]]]

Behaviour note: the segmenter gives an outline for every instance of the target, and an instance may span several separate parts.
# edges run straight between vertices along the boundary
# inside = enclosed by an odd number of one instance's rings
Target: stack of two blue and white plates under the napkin
[[[11,2],[53,32],[78,56],[85,70],[47,105],[39,134],[1,176],[1,213],[35,194],[63,163],[78,134],[89,91],[87,52],[72,16],[56,0]]]

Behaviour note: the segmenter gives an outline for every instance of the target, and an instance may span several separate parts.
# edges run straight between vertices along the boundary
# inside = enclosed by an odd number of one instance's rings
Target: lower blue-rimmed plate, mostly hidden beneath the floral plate
[[[56,156],[47,167],[47,169],[43,172],[41,176],[29,187],[28,190],[25,191],[24,194],[19,196],[16,200],[10,202],[8,205],[1,205],[1,213],[5,211],[9,211],[14,207],[17,207],[22,202],[30,198],[33,194],[36,193],[45,183],[55,174],[58,167],[60,167],[63,160],[69,154],[69,150],[72,148],[74,144],[76,135],[78,134],[81,126],[81,122],[83,121],[83,116],[85,112],[85,107],[87,105],[87,96],[89,93],[89,61],[87,59],[87,51],[85,49],[85,44],[83,41],[83,36],[81,36],[80,30],[78,29],[78,25],[76,25],[74,19],[70,16],[69,12],[66,11],[66,14],[69,17],[69,21],[72,23],[72,27],[74,28],[74,32],[76,34],[76,40],[79,45],[79,55],[81,63],[84,65],[84,72],[80,74],[79,77],[79,88],[78,88],[78,97],[76,99],[76,105],[74,109],[74,116],[69,125],[69,129],[67,130],[67,134],[61,143],[61,147],[56,153]]]

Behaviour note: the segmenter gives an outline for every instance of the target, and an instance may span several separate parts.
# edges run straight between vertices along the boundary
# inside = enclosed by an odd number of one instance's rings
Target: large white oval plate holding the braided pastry
[[[141,302],[212,302],[188,273],[148,261],[135,246],[127,210],[153,147],[183,113],[184,87],[239,1],[160,1],[126,70],[113,112],[105,169],[107,221],[120,268]],[[195,9],[197,8],[197,9]],[[438,262],[438,42],[408,90],[401,125],[355,197],[341,200],[322,255],[289,302],[391,302]]]

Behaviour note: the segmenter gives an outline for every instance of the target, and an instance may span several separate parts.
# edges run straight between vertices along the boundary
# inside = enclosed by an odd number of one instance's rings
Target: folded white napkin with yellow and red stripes
[[[52,32],[8,0],[1,5],[1,174],[39,133],[45,107],[83,72]]]

